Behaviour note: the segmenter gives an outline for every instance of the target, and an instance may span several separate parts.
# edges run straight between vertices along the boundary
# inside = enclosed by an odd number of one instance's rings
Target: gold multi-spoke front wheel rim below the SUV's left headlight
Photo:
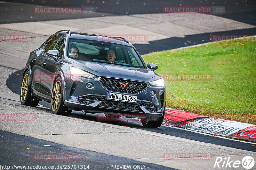
[[[60,81],[57,81],[54,85],[53,91],[52,91],[52,110],[57,110],[59,103],[60,103],[60,96],[61,96],[61,83]]]

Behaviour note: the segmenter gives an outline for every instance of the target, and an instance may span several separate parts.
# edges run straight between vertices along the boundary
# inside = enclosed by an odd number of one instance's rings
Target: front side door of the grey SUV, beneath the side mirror
[[[63,58],[64,43],[65,43],[64,36],[60,36],[57,43],[52,49],[52,50],[59,51],[59,56],[58,56],[59,61],[54,60],[52,56],[46,54],[43,65],[42,65],[42,69],[41,69],[42,74],[47,75],[46,79],[41,80],[42,95],[49,100],[51,100],[51,91],[52,91],[55,74],[59,70],[59,68],[63,65],[61,63],[61,60]]]

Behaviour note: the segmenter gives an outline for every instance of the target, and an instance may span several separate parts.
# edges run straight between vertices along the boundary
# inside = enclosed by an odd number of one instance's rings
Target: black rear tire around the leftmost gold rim
[[[26,79],[26,80],[25,80]],[[24,84],[24,81],[26,83]],[[27,91],[24,91],[24,85],[27,87]],[[20,103],[22,105],[36,107],[39,103],[39,99],[31,96],[31,78],[29,71],[27,70],[23,76],[21,87],[20,87]]]

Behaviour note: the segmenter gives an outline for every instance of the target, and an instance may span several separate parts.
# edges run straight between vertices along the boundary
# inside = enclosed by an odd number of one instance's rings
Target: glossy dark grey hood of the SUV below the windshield
[[[97,76],[104,77],[124,78],[139,81],[151,81],[150,79],[157,75],[154,71],[152,71],[149,68],[141,69],[135,67],[127,67],[108,63],[96,63],[88,61],[80,61],[79,65],[82,66],[81,69],[84,69],[85,71],[88,71]]]

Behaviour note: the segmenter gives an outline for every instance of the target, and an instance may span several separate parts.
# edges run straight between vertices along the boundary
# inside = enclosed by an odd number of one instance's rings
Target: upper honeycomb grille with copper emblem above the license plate
[[[125,88],[122,89],[120,82],[122,84],[127,83]],[[131,94],[139,93],[148,87],[146,82],[108,78],[108,77],[101,77],[100,83],[109,91],[131,93]]]

